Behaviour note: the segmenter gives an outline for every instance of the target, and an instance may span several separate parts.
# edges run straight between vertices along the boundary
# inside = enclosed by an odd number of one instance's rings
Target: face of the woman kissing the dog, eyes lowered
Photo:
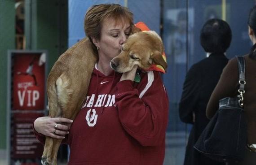
[[[101,38],[97,40],[100,60],[109,62],[121,51],[121,46],[131,33],[131,26],[128,21],[122,19],[117,22],[108,18],[102,23]]]

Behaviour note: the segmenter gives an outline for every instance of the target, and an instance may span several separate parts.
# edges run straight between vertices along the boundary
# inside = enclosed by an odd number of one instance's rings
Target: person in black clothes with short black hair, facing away
[[[230,46],[231,38],[230,26],[220,19],[208,20],[201,30],[200,42],[207,57],[192,65],[186,74],[179,104],[181,121],[193,125],[186,146],[184,165],[225,165],[203,156],[193,146],[209,122],[206,106],[228,63],[225,52]]]

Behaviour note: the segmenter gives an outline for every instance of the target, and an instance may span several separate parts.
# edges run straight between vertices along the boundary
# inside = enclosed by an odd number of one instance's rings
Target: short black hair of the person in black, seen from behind
[[[224,53],[230,47],[232,32],[227,22],[209,19],[203,25],[200,42],[205,52]]]

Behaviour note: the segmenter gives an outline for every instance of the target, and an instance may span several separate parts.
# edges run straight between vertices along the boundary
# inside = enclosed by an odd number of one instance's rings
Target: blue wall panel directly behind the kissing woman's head
[[[68,46],[85,37],[84,15],[94,4],[117,3],[134,14],[134,22],[145,22],[151,30],[160,32],[160,0],[69,0],[68,1]]]

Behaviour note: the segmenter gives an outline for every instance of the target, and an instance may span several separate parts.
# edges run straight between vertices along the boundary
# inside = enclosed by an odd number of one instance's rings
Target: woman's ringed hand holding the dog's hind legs
[[[64,139],[73,121],[62,117],[38,117],[34,122],[35,130],[45,136]],[[65,123],[65,125],[63,125]]]

